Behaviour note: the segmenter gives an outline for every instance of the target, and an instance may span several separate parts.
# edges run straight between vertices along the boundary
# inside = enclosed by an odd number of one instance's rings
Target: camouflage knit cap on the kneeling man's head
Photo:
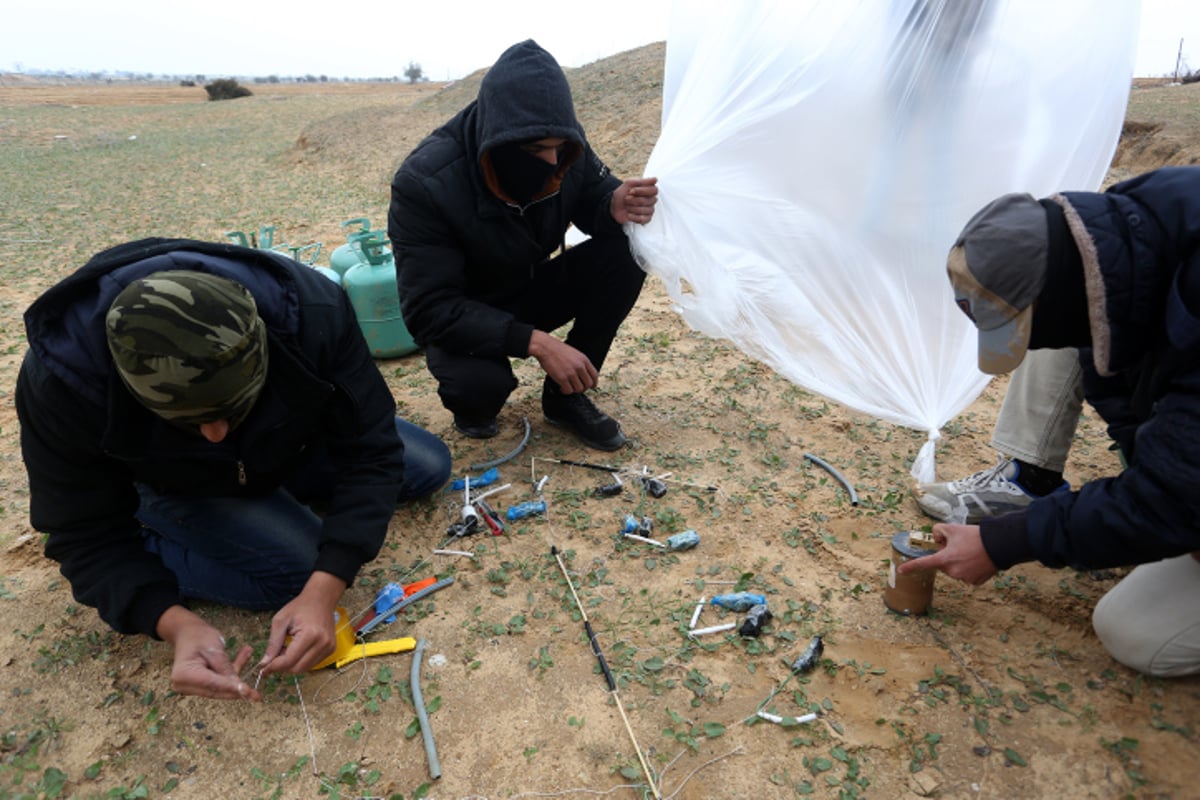
[[[236,425],[266,383],[266,326],[250,291],[227,278],[155,272],[116,296],[104,325],[121,380],[176,425]]]

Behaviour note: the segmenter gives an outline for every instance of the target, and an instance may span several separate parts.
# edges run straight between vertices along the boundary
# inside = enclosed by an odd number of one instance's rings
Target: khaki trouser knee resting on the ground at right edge
[[[1200,673],[1200,561],[1142,564],[1100,597],[1092,625],[1127,667],[1158,678]]]

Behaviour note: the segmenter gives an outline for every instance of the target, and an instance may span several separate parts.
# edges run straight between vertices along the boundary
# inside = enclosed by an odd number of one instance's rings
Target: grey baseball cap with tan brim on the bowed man
[[[1025,357],[1033,301],[1046,276],[1050,229],[1030,194],[1004,194],[980,209],[946,261],[954,302],[979,330],[979,369],[998,375]]]

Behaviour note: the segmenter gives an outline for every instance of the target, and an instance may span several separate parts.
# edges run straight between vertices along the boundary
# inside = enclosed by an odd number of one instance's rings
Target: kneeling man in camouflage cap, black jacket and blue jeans
[[[122,245],[25,327],[30,522],[76,600],[174,645],[180,693],[259,697],[250,646],[230,657],[187,600],[277,609],[258,668],[307,670],[396,503],[449,477],[445,445],[396,419],[341,288],[277,253]]]

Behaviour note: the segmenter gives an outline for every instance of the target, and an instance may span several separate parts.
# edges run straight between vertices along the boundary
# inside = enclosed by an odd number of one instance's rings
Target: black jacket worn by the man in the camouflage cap
[[[241,283],[266,323],[266,385],[218,444],[138,403],[108,353],[113,299],[163,270]],[[191,497],[262,494],[324,449],[338,480],[314,569],[349,584],[378,554],[403,479],[396,405],[346,293],[316,270],[269,251],[146,239],[95,255],[47,290],[25,330],[16,401],[30,522],[49,535],[46,554],[76,600],[114,630],[156,636],[158,618],[181,602],[175,576],[143,548],[136,482]]]

